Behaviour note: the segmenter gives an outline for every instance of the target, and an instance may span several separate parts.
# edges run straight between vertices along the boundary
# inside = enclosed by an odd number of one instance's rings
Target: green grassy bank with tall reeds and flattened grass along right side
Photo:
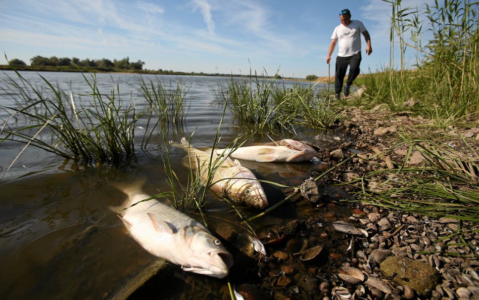
[[[374,121],[368,141],[375,141],[369,147],[376,151],[362,158],[372,164],[382,160],[361,169],[352,184],[367,203],[477,223],[479,135],[465,133],[475,132],[479,125],[479,4],[390,3],[390,65],[397,63],[393,57],[399,51],[400,67],[358,78],[365,92],[342,102],[369,111],[362,119]],[[430,30],[433,39],[422,46],[419,37],[424,30]],[[406,70],[404,57],[411,50],[417,55],[416,65]],[[397,122],[400,117],[414,121]],[[375,131],[393,121],[387,134]],[[419,158],[417,164],[410,164],[412,156]]]

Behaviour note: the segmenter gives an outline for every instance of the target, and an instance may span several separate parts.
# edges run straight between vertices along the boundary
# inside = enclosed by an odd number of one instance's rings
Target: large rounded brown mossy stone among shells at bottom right
[[[390,256],[380,264],[380,270],[398,284],[409,285],[422,296],[427,296],[439,283],[436,269],[402,256]]]

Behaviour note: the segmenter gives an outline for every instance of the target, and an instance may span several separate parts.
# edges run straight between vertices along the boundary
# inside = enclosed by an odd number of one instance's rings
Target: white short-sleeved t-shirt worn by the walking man
[[[332,32],[331,39],[338,39],[338,56],[348,57],[361,52],[361,34],[366,31],[363,22],[351,20],[348,26],[338,25]]]

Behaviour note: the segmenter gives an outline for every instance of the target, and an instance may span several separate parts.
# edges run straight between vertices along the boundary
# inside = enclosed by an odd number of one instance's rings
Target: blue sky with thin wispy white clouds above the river
[[[433,1],[424,1],[432,3]],[[403,7],[424,2],[403,0]],[[331,33],[349,8],[371,35],[362,72],[390,59],[390,5],[381,0],[2,0],[0,50],[36,56],[122,59],[146,69],[326,76]],[[413,52],[411,52],[413,53]],[[336,52],[333,56],[336,57]],[[413,57],[408,57],[413,61]],[[6,64],[5,57],[0,64]],[[331,75],[334,73],[334,59]]]

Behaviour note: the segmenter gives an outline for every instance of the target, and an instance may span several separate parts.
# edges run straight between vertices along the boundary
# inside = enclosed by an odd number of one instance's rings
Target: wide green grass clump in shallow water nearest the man
[[[324,91],[316,90],[309,84],[287,88],[255,73],[247,79],[231,78],[221,95],[238,127],[296,134],[295,125],[328,128],[340,116],[339,109],[325,101]]]

